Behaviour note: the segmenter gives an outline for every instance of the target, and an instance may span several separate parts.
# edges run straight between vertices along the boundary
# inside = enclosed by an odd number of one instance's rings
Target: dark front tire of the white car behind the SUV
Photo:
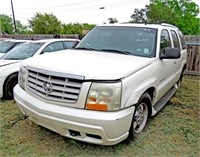
[[[3,98],[11,100],[13,99],[13,88],[15,85],[18,83],[18,74],[12,74],[10,75],[5,83],[4,83],[4,88],[3,88]]]

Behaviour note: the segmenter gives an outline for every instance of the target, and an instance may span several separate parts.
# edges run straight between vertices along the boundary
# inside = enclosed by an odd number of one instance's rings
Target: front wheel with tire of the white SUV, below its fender
[[[129,138],[134,140],[147,127],[150,117],[149,107],[151,106],[151,97],[148,93],[144,93],[139,99],[132,119]]]

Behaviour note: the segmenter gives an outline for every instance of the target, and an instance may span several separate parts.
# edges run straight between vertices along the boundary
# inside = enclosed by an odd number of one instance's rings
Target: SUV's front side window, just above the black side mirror
[[[160,38],[160,50],[163,51],[164,48],[172,47],[171,40],[169,37],[169,33],[167,30],[161,31],[161,38]]]

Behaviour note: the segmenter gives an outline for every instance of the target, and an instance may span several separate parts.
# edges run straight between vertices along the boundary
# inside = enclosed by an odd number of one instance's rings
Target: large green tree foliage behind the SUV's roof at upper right
[[[199,34],[199,7],[192,0],[153,0],[135,9],[130,22],[170,23],[184,34]]]

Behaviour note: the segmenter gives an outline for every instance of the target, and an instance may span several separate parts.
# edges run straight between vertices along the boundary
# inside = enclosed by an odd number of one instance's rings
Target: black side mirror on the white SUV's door
[[[178,59],[181,57],[181,52],[177,48],[165,48],[160,53],[160,59]]]

